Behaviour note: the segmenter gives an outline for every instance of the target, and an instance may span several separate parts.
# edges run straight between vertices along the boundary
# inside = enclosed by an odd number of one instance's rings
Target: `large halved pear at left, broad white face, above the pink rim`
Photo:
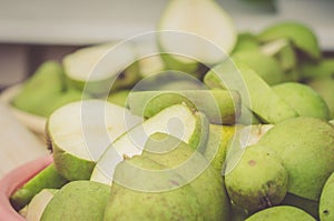
[[[110,142],[140,122],[128,109],[102,100],[61,107],[47,123],[57,171],[70,181],[89,179]]]

